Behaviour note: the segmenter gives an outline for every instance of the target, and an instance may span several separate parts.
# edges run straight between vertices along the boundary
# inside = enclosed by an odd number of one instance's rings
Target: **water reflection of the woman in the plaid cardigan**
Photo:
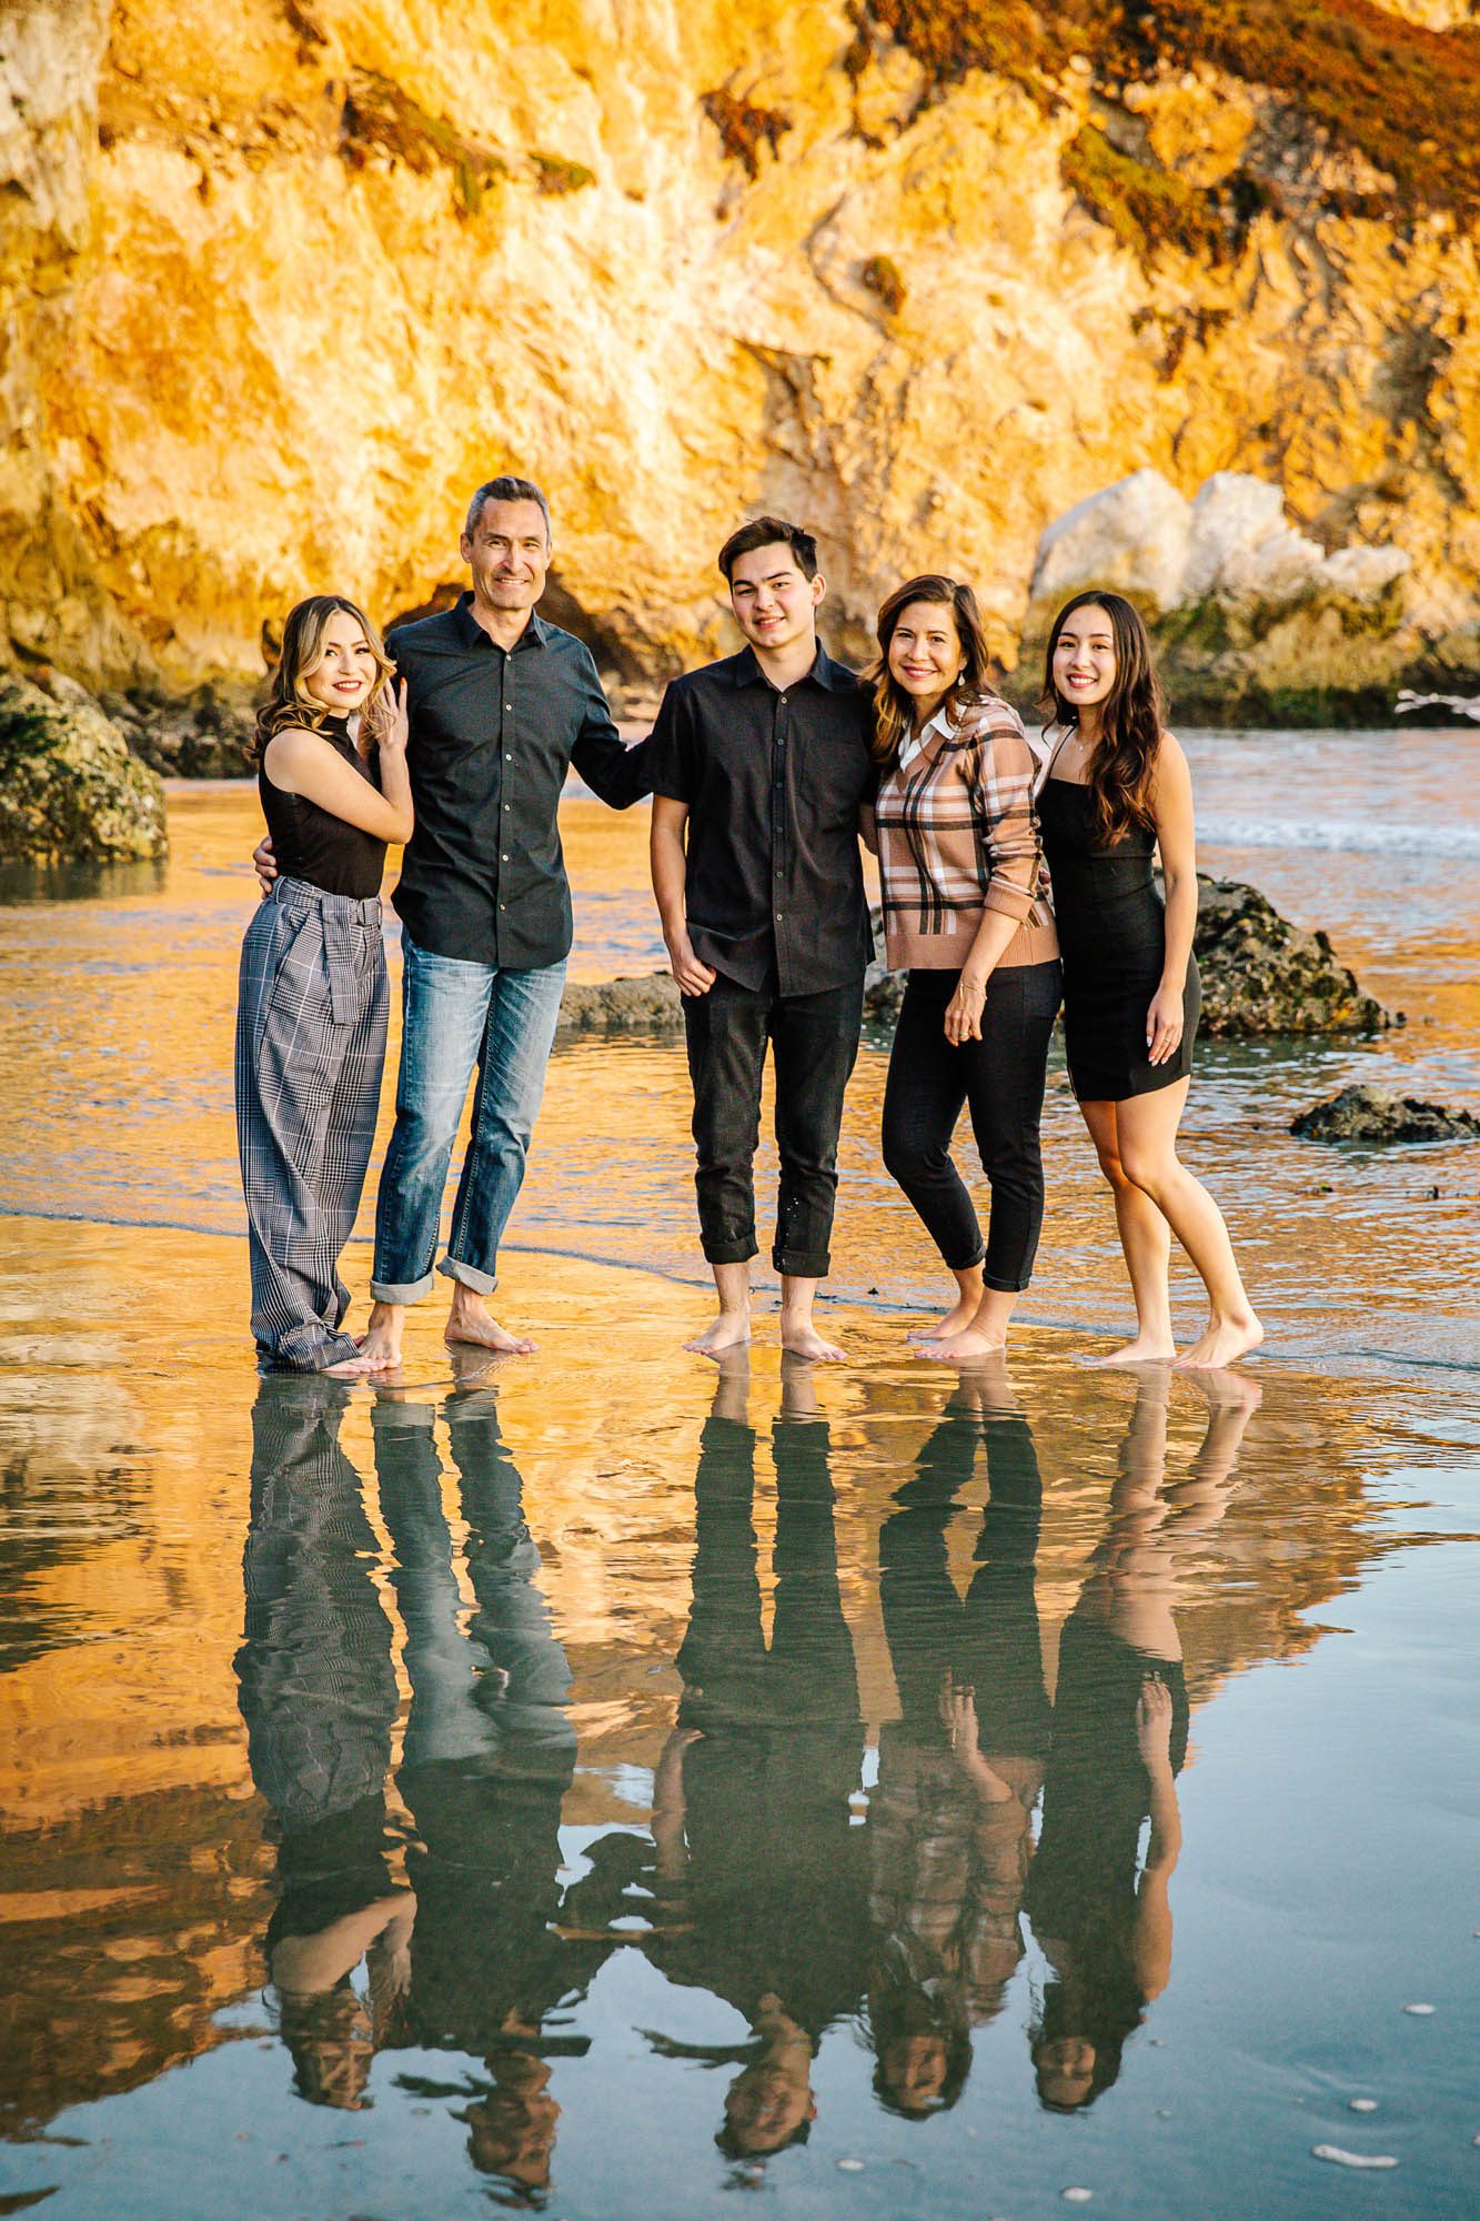
[[[962,1597],[947,1535],[987,1444],[989,1504]],[[1000,1370],[962,1384],[880,1530],[900,1719],[869,1812],[873,2088],[924,2119],[960,2097],[971,2028],[1022,1959],[1031,1810],[1049,1750],[1033,1597],[1042,1479]]]

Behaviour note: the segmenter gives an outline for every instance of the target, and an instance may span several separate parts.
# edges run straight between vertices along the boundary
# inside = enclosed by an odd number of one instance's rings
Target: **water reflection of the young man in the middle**
[[[816,2117],[811,2061],[862,1994],[862,1843],[849,1797],[862,1721],[842,1617],[829,1428],[804,1366],[784,1366],[776,1461],[776,1610],[762,1628],[756,1433],[744,1357],[720,1377],[696,1473],[684,1692],[653,1783],[658,1915],[649,1952],[744,2014],[718,2143],[762,2157]]]

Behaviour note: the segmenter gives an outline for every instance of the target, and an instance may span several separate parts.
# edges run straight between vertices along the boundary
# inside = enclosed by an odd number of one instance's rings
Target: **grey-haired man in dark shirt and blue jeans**
[[[491,1315],[498,1244],[524,1179],[571,948],[558,804],[569,764],[602,802],[649,791],[647,746],[611,722],[591,651],[536,615],[549,504],[527,478],[478,489],[462,531],[473,586],[389,635],[407,680],[411,802],[396,908],[402,1042],[396,1133],[376,1204],[364,1355],[400,1364],[404,1306],[433,1284],[442,1190],[469,1079],[473,1130],[447,1257],[449,1341],[524,1353]]]

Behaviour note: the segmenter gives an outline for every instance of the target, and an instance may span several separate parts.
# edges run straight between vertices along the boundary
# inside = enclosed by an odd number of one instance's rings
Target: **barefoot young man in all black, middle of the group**
[[[782,1344],[842,1357],[811,1306],[829,1266],[842,1091],[858,1055],[869,908],[858,855],[873,797],[873,702],[818,646],[827,584],[780,517],[720,549],[740,655],[673,680],[649,740],[653,893],[684,995],[698,1210],[718,1319],[689,1348],[749,1341],[753,1155],[767,1039],[780,1206]]]

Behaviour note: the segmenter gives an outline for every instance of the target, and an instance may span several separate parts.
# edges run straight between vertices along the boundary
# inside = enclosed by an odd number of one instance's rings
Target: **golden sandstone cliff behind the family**
[[[1316,569],[1407,557],[1300,586],[1276,708],[1473,684],[1467,18],[4,0],[0,655],[256,680],[298,593],[456,580],[462,495],[524,469],[618,677],[722,644],[758,506],[820,531],[844,651],[944,566],[1011,666],[1044,529],[1156,471],[1280,489]],[[1249,664],[1233,602],[1189,669]]]

